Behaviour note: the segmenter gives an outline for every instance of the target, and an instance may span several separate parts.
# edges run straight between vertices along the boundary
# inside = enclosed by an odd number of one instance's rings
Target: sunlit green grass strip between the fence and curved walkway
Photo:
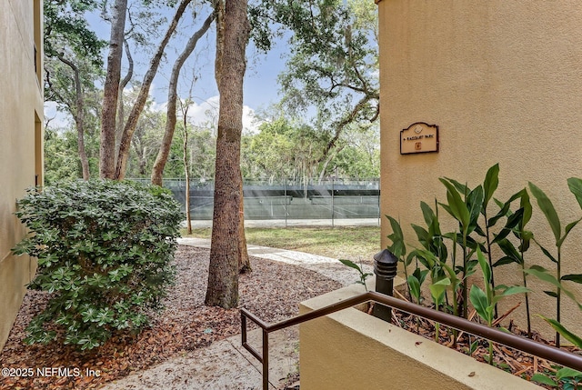
[[[380,251],[379,226],[337,227],[247,227],[246,242],[251,245],[346,258],[356,262],[372,263]],[[210,238],[210,228],[192,230],[193,237]],[[183,232],[183,236],[187,236]]]

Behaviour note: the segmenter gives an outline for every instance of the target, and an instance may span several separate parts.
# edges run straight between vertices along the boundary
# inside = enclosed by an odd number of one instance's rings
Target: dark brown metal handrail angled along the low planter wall
[[[256,359],[263,364],[263,389],[267,390],[269,385],[269,333],[284,329],[289,326],[299,325],[324,315],[330,315],[354,305],[364,304],[368,301],[374,301],[380,304],[388,305],[411,315],[418,315],[420,317],[436,321],[440,324],[448,325],[468,334],[486,338],[487,340],[491,340],[497,344],[507,345],[509,347],[526,352],[527,354],[536,355],[543,359],[557,363],[558,365],[565,365],[577,371],[582,371],[582,355],[572,354],[565,350],[556,348],[555,346],[544,345],[528,338],[502,332],[496,328],[468,321],[467,319],[457,317],[456,315],[449,315],[447,313],[439,312],[422,305],[416,305],[401,299],[396,299],[393,296],[376,293],[375,291],[368,291],[367,293],[347,298],[346,300],[337,302],[336,304],[321,307],[304,315],[296,315],[295,317],[288,318],[276,324],[267,324],[256,315],[253,315],[245,308],[242,308],[240,310],[242,344],[245,349],[251,353],[251,355],[255,356]],[[263,355],[261,355],[251,345],[246,343],[246,318],[253,321],[263,330]]]

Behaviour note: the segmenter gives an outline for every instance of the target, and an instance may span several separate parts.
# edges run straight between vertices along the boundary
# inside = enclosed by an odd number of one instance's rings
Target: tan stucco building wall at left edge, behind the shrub
[[[10,332],[35,262],[11,255],[25,235],[15,202],[42,184],[43,95],[35,72],[42,53],[42,1],[2,0],[0,12],[0,350]],[[35,34],[36,33],[36,34]],[[42,69],[37,55],[37,68]],[[40,154],[40,155],[39,155]],[[38,179],[35,179],[38,175]]]

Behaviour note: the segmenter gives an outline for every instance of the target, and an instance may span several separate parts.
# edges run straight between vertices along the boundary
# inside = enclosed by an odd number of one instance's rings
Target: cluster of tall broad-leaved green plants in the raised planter
[[[467,305],[470,302],[482,320],[487,325],[493,325],[497,318],[497,302],[507,295],[523,294],[526,299],[527,334],[531,336],[531,308],[528,295],[530,289],[528,288],[527,276],[535,276],[538,280],[555,287],[554,291],[545,291],[545,293],[557,299],[557,316],[555,319],[544,316],[542,318],[556,329],[557,345],[559,345],[560,335],[577,345],[580,337],[568,331],[560,323],[560,305],[561,296],[567,295],[582,310],[577,296],[567,285],[568,283],[582,284],[582,274],[562,275],[562,245],[582,218],[562,227],[552,202],[537,185],[532,183],[529,183],[528,188],[517,191],[507,202],[498,201],[494,197],[499,185],[498,175],[499,166],[493,165],[487,170],[483,184],[477,185],[474,189],[470,189],[467,185],[462,185],[454,179],[439,179],[446,187],[447,202],[435,201],[435,210],[421,202],[420,207],[426,225],[411,225],[416,233],[417,243],[421,247],[415,248],[407,255],[403,229],[395,218],[386,215],[392,227],[392,233],[388,235],[388,239],[391,241],[388,249],[395,255],[397,254],[399,260],[405,265],[406,281],[411,300],[418,304],[422,302],[423,289],[421,286],[425,282],[426,276],[430,275],[429,290],[437,310],[442,308],[455,315],[467,317]],[[567,180],[567,184],[570,192],[576,196],[578,205],[582,208],[582,179],[570,178]],[[542,214],[545,215],[554,235],[556,255],[540,245],[534,233],[527,229],[527,224],[534,212],[530,202],[530,193],[537,200],[537,205]],[[491,208],[491,200],[494,200],[498,206],[497,213]],[[519,202],[519,205],[514,208],[516,201]],[[455,219],[458,226],[456,231],[441,232],[438,217],[439,208],[447,211],[447,214]],[[503,224],[497,227],[499,222],[503,222]],[[450,240],[452,245],[445,245],[444,239]],[[555,272],[540,265],[526,266],[525,254],[532,241],[539,246],[544,255],[556,264]],[[457,247],[461,249],[462,265],[457,265]],[[501,253],[501,256],[494,257],[496,253]],[[414,259],[416,259],[416,268],[411,273],[407,268],[413,265]],[[523,285],[510,287],[496,285],[493,270],[512,263],[520,266]],[[477,271],[477,264],[484,278],[485,290],[473,285],[467,296],[467,278]],[[420,268],[421,265],[424,269]],[[447,297],[449,290],[452,293],[452,299]],[[489,353],[489,361],[491,359],[492,354]],[[564,378],[569,377],[567,375],[572,375],[567,370],[561,373],[558,376]]]

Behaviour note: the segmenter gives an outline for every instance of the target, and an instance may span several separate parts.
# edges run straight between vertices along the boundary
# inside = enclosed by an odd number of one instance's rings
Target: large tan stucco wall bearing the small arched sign
[[[552,199],[564,222],[582,216],[567,188],[568,177],[582,177],[580,3],[381,0],[378,9],[382,214],[400,219],[408,241],[413,244],[416,237],[410,224],[424,224],[420,201],[446,200],[438,177],[474,187],[496,163],[500,200],[531,181]],[[416,122],[439,126],[439,153],[399,154],[400,131]],[[441,215],[450,221],[444,210]],[[537,205],[528,227],[554,247]],[[383,245],[388,233],[385,220]],[[582,273],[581,243],[579,225],[564,246],[563,275]],[[527,263],[554,269],[532,246]],[[496,275],[514,276],[515,283],[520,278],[513,265]],[[540,288],[550,286],[530,281],[537,285],[533,313],[555,316],[555,300]],[[582,299],[580,285],[569,285]],[[582,334],[582,312],[568,298],[563,301],[563,323]],[[517,315],[524,315],[524,306]],[[525,327],[523,319],[518,325]],[[537,328],[552,333],[540,320]]]

